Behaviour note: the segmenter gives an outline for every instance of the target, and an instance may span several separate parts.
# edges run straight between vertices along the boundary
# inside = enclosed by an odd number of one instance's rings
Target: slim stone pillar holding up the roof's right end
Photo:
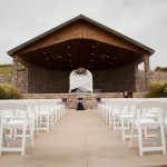
[[[148,90],[148,87],[150,85],[149,78],[150,78],[150,66],[149,66],[149,55],[144,55],[144,65],[145,65],[145,88],[146,91]]]

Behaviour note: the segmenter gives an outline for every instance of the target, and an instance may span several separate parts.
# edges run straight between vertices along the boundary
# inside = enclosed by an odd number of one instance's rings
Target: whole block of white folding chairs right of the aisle
[[[104,98],[98,102],[99,115],[122,140],[138,139],[139,155],[161,150],[166,154],[167,99]],[[146,143],[147,140],[147,143]]]

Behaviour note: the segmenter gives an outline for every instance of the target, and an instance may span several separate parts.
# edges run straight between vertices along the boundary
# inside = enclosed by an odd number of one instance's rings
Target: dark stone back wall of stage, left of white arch
[[[58,71],[39,67],[28,69],[28,92],[61,94],[69,92],[70,71]]]

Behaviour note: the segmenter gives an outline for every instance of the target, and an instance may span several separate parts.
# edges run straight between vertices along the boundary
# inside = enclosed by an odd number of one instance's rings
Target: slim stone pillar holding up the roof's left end
[[[18,56],[13,56],[12,63],[12,85],[18,88]]]

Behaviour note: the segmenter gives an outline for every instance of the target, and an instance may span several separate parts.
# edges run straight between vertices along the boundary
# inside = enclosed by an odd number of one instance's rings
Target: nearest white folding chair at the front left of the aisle
[[[6,111],[11,110],[13,111],[14,118],[11,120],[7,120],[6,118]],[[24,149],[26,149],[26,138],[27,138],[27,129],[29,128],[29,121],[28,121],[28,116],[24,115],[23,119],[17,119],[17,111],[27,111],[27,105],[24,102],[12,102],[12,101],[8,101],[6,104],[1,104],[0,105],[0,112],[1,112],[1,124],[0,124],[0,155],[2,151],[20,151],[21,155],[24,155]],[[14,129],[12,131],[14,131],[12,134],[12,139],[17,139],[16,138],[16,131],[17,130],[21,130],[22,135],[22,140],[21,140],[21,146],[19,147],[9,147],[9,143],[7,144],[7,146],[3,145],[3,138],[6,138],[6,140],[8,141],[8,136],[7,136],[7,131],[11,129]],[[30,140],[31,140],[31,145],[33,147],[33,137],[31,134],[31,130],[29,130],[30,132]]]

